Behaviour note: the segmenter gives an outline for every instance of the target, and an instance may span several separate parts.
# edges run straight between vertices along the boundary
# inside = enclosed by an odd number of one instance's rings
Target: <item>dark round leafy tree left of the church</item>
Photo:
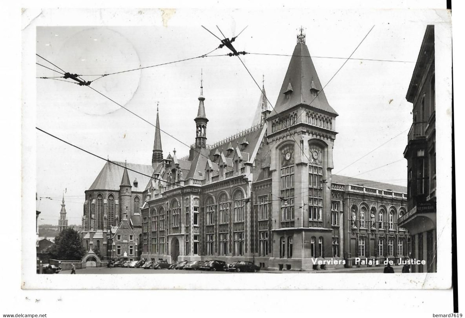
[[[86,254],[86,250],[79,233],[72,228],[66,228],[55,237],[55,245],[50,253],[56,259],[78,260]]]

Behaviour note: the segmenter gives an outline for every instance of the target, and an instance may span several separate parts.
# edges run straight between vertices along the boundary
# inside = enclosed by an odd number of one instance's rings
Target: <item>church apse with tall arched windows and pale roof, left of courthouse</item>
[[[87,251],[98,250],[103,258],[117,254],[116,241],[112,238],[120,229],[123,219],[134,231],[134,242],[140,242],[142,192],[149,183],[149,176],[153,175],[151,165],[115,163],[106,162],[95,181],[85,191],[81,230],[83,244]],[[109,246],[108,242],[113,246]]]

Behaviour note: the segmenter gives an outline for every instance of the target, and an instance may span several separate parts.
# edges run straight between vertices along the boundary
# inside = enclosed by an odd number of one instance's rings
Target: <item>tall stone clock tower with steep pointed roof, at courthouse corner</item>
[[[320,244],[319,256],[332,255],[332,149],[336,111],[330,106],[313,65],[301,27],[275,107],[267,121],[271,147],[273,201],[272,255],[286,255],[292,268],[304,268],[315,257],[310,244]],[[284,178],[284,179],[283,179]],[[285,182],[283,182],[283,180]],[[287,182],[287,180],[291,180]],[[337,231],[337,230],[336,230]],[[292,245],[293,242],[293,245]],[[313,254],[312,254],[313,253]],[[282,261],[270,259],[270,267]]]

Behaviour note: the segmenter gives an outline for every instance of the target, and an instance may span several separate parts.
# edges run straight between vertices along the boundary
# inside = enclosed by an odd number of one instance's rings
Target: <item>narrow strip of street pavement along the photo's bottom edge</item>
[[[402,266],[392,266],[395,273],[402,272]],[[319,273],[382,273],[383,266],[379,267],[354,267],[354,268],[340,268],[319,271],[258,271],[255,274],[319,274]],[[82,270],[76,270],[76,274],[220,274],[227,275],[229,272],[225,271],[185,271],[185,270],[145,270],[143,268],[108,268],[108,267],[89,267]],[[71,274],[71,271],[61,271],[60,274]],[[241,273],[243,275],[254,273]]]

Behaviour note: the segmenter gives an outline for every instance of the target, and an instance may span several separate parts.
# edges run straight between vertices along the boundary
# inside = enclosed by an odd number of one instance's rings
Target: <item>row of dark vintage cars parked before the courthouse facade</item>
[[[260,267],[247,261],[236,261],[231,264],[226,264],[224,261],[209,260],[209,261],[181,261],[179,263],[169,264],[167,261],[116,261],[110,262],[108,267],[130,267],[148,269],[169,269],[169,270],[186,270],[186,271],[249,271],[256,272]]]

